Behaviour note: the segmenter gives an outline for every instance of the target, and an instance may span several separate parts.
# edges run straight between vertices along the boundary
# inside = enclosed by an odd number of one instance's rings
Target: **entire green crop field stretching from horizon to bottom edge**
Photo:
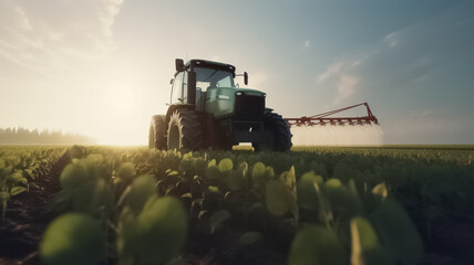
[[[0,147],[0,264],[470,264],[474,146]]]

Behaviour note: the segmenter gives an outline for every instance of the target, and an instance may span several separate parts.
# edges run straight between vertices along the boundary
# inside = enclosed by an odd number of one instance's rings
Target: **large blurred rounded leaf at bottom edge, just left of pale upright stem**
[[[300,229],[291,242],[289,265],[342,265],[347,253],[336,233],[319,225]]]

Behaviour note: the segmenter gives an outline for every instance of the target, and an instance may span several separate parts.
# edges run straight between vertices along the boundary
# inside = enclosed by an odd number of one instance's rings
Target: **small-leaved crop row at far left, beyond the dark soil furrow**
[[[1,147],[0,148],[0,201],[2,218],[8,202],[28,192],[30,182],[49,172],[63,147]]]

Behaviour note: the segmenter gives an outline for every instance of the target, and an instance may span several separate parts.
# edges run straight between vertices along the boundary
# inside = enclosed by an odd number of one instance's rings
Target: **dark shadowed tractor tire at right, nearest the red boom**
[[[266,113],[264,115],[264,128],[271,137],[266,142],[253,142],[256,151],[288,151],[291,149],[290,128],[281,117],[276,113]]]

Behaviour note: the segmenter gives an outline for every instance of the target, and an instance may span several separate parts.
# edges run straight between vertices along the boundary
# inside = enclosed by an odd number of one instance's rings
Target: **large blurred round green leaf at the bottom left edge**
[[[41,242],[40,256],[48,265],[100,264],[104,257],[105,236],[97,220],[79,213],[55,219]]]

